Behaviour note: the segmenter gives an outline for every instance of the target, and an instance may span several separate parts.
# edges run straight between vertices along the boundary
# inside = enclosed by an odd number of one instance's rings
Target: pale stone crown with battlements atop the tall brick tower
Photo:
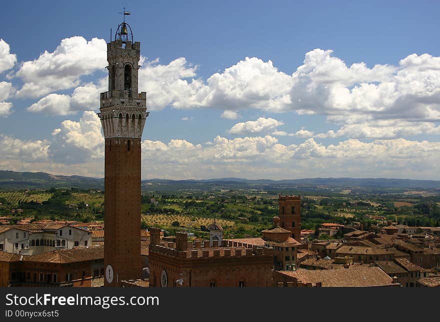
[[[140,43],[116,39],[107,44],[108,92],[100,94],[105,139],[139,138],[146,117],[146,93],[138,93]]]

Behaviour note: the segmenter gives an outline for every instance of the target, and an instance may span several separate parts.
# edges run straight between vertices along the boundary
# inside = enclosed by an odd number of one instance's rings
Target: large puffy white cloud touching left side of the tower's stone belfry
[[[17,97],[41,97],[48,93],[77,87],[81,76],[106,66],[107,46],[103,39],[86,41],[82,37],[63,39],[51,53],[24,62],[15,76],[25,84]]]

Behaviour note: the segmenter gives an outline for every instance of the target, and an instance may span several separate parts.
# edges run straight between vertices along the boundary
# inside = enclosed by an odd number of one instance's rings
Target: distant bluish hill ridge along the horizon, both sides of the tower
[[[377,188],[406,188],[406,189],[440,189],[440,181],[388,179],[388,178],[303,178],[303,179],[242,179],[242,178],[214,178],[214,179],[147,179],[141,181],[142,189],[152,190],[179,190],[179,189],[205,189],[218,186],[229,189],[292,189],[300,187],[329,186],[338,188],[377,187]],[[104,178],[84,176],[52,175],[45,172],[15,172],[0,170],[0,188],[48,188],[48,187],[78,187],[90,189],[103,189]]]

